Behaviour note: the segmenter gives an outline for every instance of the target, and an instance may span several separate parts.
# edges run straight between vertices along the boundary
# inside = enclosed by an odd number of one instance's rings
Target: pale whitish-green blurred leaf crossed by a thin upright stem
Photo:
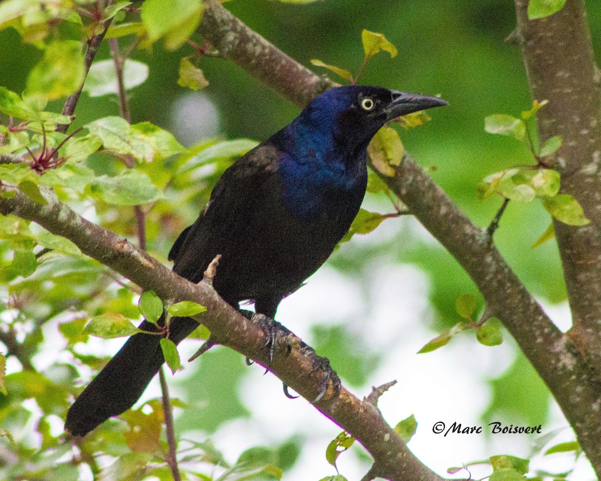
[[[126,59],[123,64],[123,84],[125,90],[130,90],[142,84],[148,78],[148,66],[135,60]],[[100,97],[106,94],[119,94],[117,72],[112,60],[94,62],[85,79],[84,91],[90,97]]]

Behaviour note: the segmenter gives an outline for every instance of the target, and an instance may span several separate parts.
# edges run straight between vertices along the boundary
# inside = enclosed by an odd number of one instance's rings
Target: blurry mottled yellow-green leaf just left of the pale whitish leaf
[[[46,47],[44,57],[29,72],[26,92],[46,100],[67,97],[85,79],[84,55],[78,41],[56,41]]]

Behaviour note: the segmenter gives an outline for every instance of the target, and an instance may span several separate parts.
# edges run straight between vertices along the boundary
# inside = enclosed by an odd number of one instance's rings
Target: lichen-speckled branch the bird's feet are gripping
[[[0,192],[9,190],[14,191],[14,188],[0,185]],[[212,339],[263,366],[267,364],[263,328],[223,301],[210,283],[193,284],[185,280],[127,240],[73,212],[58,200],[51,189],[40,186],[40,192],[47,201],[46,205],[37,204],[17,191],[11,198],[0,197],[0,213],[29,219],[54,234],[66,237],[82,253],[114,269],[144,290],[154,290],[165,301],[195,301],[205,305],[206,313],[195,316],[195,319],[209,328]],[[290,343],[292,346],[298,344]],[[293,347],[287,356],[276,355],[269,369],[305,399],[316,399],[323,373],[314,370],[313,358],[302,349]],[[315,407],[367,449],[375,460],[377,470],[373,472],[378,476],[392,481],[442,480],[412,455],[370,402],[361,402],[343,387],[335,396],[330,385]]]

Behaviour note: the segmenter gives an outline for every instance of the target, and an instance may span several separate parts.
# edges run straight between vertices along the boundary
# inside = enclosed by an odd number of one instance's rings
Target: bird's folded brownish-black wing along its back
[[[169,252],[177,274],[200,281],[215,256],[226,256],[228,248],[244,236],[257,196],[277,188],[278,158],[275,146],[261,144],[224,172],[197,221],[180,234]]]

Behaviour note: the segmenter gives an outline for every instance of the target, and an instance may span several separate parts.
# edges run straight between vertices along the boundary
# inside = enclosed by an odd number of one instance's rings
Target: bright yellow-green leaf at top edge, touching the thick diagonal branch
[[[201,0],[146,0],[142,4],[141,16],[150,41],[155,41],[202,11]]]

